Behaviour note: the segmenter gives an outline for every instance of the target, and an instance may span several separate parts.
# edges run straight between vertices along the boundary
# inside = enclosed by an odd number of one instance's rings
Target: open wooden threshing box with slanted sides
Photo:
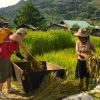
[[[26,93],[39,87],[45,75],[55,72],[57,77],[65,76],[65,69],[60,68],[50,62],[40,61],[43,65],[42,71],[33,71],[28,62],[13,62],[12,75],[15,80],[20,82]]]

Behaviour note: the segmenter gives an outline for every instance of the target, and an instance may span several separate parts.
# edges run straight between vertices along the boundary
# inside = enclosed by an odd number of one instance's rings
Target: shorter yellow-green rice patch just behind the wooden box
[[[77,56],[75,49],[69,48],[59,51],[52,51],[44,53],[43,55],[36,55],[36,59],[40,61],[48,61],[68,70],[69,76],[73,77],[76,68]]]

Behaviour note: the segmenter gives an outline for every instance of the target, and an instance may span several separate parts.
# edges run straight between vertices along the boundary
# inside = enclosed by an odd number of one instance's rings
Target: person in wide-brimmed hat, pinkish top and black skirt
[[[78,41],[76,41],[76,54],[78,56],[78,61],[75,76],[76,78],[79,78],[80,90],[84,90],[83,78],[86,78],[85,90],[88,90],[90,74],[87,70],[86,58],[91,55],[91,51],[96,53],[96,49],[93,42],[88,38],[89,34],[86,32],[86,29],[80,28],[78,32],[74,34],[74,36],[78,37]]]

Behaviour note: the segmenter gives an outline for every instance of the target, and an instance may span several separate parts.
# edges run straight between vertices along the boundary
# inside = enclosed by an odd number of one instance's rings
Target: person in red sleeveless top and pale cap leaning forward
[[[0,45],[0,98],[6,99],[6,95],[2,92],[3,83],[8,82],[8,91],[11,88],[11,62],[10,57],[14,52],[17,52],[18,44],[22,49],[32,57],[32,54],[23,43],[22,39],[27,32],[24,28],[20,28],[16,33],[10,34],[6,37],[3,44]]]

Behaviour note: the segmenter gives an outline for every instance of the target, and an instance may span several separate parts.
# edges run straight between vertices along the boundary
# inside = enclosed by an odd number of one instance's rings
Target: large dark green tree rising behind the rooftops
[[[34,7],[32,2],[26,2],[14,19],[16,25],[29,24],[34,27],[43,28],[45,26],[45,18],[40,14],[39,10]]]

